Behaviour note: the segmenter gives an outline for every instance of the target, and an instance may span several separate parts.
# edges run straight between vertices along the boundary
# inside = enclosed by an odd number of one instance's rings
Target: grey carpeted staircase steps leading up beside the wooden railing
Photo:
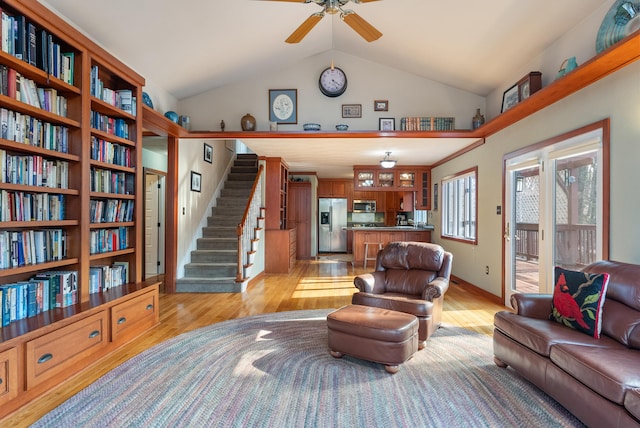
[[[178,293],[237,293],[242,284],[236,281],[238,266],[237,226],[247,206],[258,172],[258,157],[238,154],[227,176],[216,206],[202,228],[191,263],[185,265],[184,277],[176,280]]]

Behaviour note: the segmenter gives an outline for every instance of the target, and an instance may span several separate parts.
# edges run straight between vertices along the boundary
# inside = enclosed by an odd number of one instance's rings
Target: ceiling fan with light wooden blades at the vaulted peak
[[[371,1],[378,0],[269,0],[269,1],[286,1],[291,3],[315,3],[322,7],[322,11],[316,12],[308,17],[291,35],[285,40],[287,43],[299,43],[304,37],[320,22],[325,13],[329,15],[340,14],[340,19],[347,23],[347,25],[360,34],[367,42],[373,42],[378,40],[382,33],[378,31],[373,25],[365,21],[360,15],[350,9],[342,9],[344,5],[350,1],[353,3],[369,3]]]

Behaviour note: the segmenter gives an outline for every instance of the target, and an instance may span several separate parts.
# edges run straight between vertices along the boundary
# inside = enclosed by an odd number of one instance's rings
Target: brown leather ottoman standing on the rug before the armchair
[[[418,318],[411,314],[347,305],[327,315],[327,327],[333,357],[384,364],[391,374],[418,351]]]

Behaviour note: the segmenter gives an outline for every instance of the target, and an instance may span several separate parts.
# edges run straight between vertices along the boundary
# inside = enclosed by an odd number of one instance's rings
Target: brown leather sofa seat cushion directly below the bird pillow
[[[495,328],[522,346],[545,357],[549,356],[551,347],[556,343],[596,345],[599,342],[598,339],[556,322],[523,317],[508,311],[497,312],[494,315],[493,324]]]

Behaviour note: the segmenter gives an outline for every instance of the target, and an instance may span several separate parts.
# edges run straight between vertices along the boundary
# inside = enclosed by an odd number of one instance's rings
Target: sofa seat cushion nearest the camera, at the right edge
[[[550,358],[576,380],[619,405],[629,390],[640,387],[640,352],[607,337],[591,345],[556,344]]]

